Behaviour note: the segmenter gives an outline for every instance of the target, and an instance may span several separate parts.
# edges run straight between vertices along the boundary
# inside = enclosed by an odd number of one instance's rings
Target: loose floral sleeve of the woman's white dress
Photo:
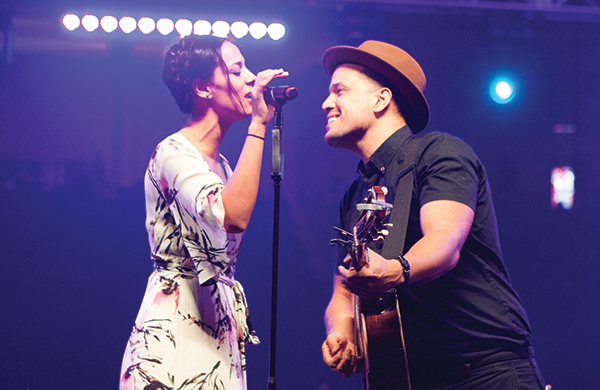
[[[159,145],[155,177],[196,265],[200,283],[213,279],[235,260],[228,251],[221,178],[202,155],[173,138]],[[229,252],[229,253],[228,253]]]

